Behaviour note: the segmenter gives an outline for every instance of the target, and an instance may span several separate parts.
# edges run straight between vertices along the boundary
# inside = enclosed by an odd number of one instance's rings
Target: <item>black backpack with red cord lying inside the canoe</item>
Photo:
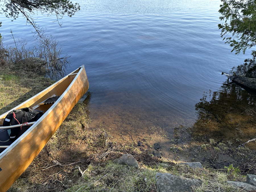
[[[10,140],[14,142],[18,137],[20,137],[31,126],[26,125],[26,123],[37,121],[44,114],[43,112],[44,111],[33,110],[27,107],[9,112],[5,117],[3,126],[19,125],[24,123],[21,127],[11,129]]]

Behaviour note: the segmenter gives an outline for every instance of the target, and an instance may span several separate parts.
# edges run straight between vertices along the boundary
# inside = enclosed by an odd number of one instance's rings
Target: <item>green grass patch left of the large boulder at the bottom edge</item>
[[[156,191],[156,172],[157,169],[146,166],[136,170],[110,161],[104,166],[94,166],[82,178],[83,182],[80,181],[67,191]]]

